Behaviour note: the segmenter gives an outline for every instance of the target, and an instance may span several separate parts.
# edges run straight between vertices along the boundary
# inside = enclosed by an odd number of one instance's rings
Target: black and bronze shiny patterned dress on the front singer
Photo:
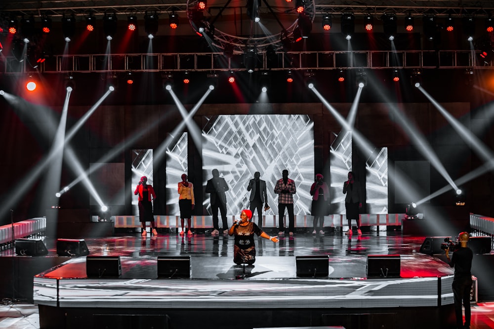
[[[233,261],[235,264],[253,264],[255,262],[254,234],[259,236],[262,230],[249,221],[246,226],[235,225],[233,234],[235,235]]]

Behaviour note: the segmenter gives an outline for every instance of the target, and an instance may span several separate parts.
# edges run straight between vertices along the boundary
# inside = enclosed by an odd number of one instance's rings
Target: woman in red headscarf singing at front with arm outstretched
[[[233,261],[238,265],[252,265],[255,262],[254,234],[273,242],[279,241],[277,236],[267,235],[259,226],[249,221],[251,218],[252,212],[244,209],[240,213],[240,220],[236,220],[232,227],[228,229],[228,235],[235,235]]]

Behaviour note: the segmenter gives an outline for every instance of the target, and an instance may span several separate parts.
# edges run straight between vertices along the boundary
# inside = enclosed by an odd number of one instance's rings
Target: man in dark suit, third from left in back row
[[[218,209],[221,213],[221,220],[223,221],[223,234],[228,233],[228,222],[226,220],[226,194],[228,191],[228,185],[224,178],[219,177],[218,169],[212,170],[213,178],[206,183],[206,193],[211,193],[211,212],[213,213],[213,226],[214,230],[212,235],[219,234],[218,224]]]

